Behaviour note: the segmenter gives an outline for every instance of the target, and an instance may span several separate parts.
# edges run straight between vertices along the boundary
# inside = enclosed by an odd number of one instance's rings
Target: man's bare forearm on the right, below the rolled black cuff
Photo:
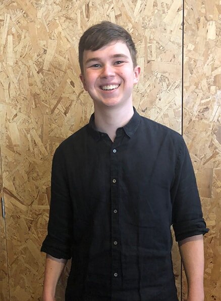
[[[203,301],[204,249],[203,236],[195,235],[179,243],[182,263],[187,277],[187,301]]]

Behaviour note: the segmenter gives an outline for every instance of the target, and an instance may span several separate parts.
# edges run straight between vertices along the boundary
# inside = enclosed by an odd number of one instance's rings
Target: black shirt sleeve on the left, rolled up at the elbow
[[[67,168],[60,148],[56,150],[52,160],[51,200],[47,231],[41,251],[58,259],[70,259],[73,241],[73,207]]]

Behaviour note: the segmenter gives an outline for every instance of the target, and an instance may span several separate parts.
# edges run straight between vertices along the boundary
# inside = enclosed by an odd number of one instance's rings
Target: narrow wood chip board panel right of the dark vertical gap
[[[184,137],[210,228],[205,243],[205,301],[221,300],[221,4],[185,3]],[[186,299],[186,281],[183,299]]]

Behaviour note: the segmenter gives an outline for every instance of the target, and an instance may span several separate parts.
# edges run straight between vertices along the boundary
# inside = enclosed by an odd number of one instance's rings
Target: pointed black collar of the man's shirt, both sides
[[[128,137],[131,138],[134,135],[134,133],[136,132],[137,127],[140,123],[140,120],[141,120],[141,116],[137,113],[136,109],[134,108],[134,114],[133,114],[132,118],[125,126],[122,127],[124,129],[125,133],[128,135]],[[88,123],[88,128],[89,128],[89,133],[93,136],[93,138],[95,140],[98,141],[100,139],[100,135],[102,133],[100,133],[96,130],[95,123],[94,123],[94,113],[90,117],[90,120]]]

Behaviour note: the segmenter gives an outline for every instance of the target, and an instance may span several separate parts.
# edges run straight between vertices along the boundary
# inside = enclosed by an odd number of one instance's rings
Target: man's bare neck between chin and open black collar
[[[99,108],[94,106],[94,122],[99,132],[106,133],[114,142],[116,131],[128,123],[134,114],[133,105],[127,108]]]

